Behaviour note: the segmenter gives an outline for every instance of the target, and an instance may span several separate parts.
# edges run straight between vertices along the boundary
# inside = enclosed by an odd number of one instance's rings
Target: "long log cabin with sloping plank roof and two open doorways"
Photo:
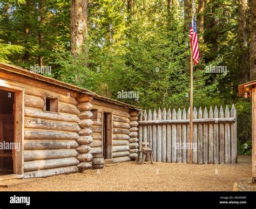
[[[139,107],[0,62],[0,178],[48,177],[138,153]]]

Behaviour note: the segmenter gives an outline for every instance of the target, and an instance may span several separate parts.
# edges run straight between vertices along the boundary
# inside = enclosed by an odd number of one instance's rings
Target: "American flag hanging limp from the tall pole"
[[[191,51],[193,53],[194,65],[197,65],[199,62],[199,46],[198,46],[198,39],[197,39],[197,25],[196,20],[193,17],[193,24],[191,23],[190,27],[190,43],[191,43]],[[193,30],[194,25],[194,30]]]

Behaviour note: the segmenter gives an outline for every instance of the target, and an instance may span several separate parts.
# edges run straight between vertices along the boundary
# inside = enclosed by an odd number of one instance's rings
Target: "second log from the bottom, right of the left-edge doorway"
[[[76,157],[60,159],[41,159],[38,161],[24,162],[24,171],[36,171],[44,169],[62,168],[80,163]]]

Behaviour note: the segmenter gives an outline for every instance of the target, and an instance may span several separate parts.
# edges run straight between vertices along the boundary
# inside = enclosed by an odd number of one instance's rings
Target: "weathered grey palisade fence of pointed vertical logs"
[[[209,112],[193,109],[193,163],[237,163],[237,113],[234,105]],[[139,113],[139,148],[149,142],[153,160],[190,163],[190,108],[181,113],[154,109]]]

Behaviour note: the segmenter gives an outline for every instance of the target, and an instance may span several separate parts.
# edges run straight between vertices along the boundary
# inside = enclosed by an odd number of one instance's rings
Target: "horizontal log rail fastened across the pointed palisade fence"
[[[193,123],[234,123],[235,117],[223,117],[217,119],[194,119]],[[150,124],[189,124],[190,120],[161,120],[161,121],[139,121],[140,125]]]

